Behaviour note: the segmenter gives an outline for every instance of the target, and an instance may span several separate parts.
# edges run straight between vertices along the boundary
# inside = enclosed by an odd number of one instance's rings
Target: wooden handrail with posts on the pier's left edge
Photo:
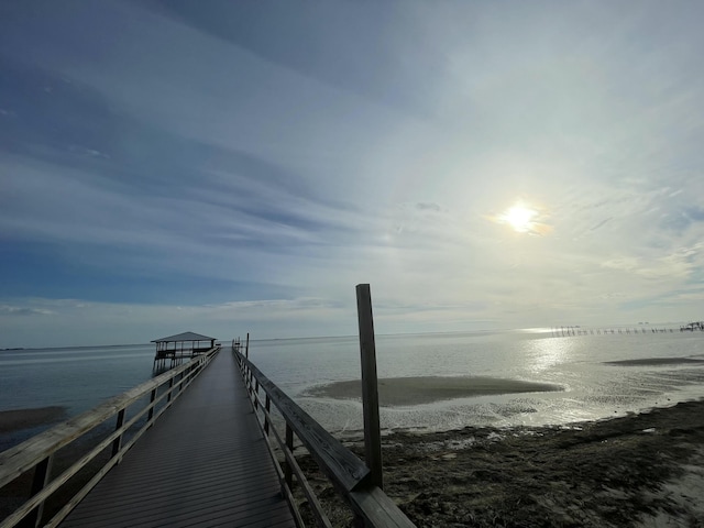
[[[62,508],[62,510],[48,521],[47,526],[57,525],[70,509],[78,503],[78,497],[82,498],[99,482],[99,480],[108,472],[110,468],[119,463],[124,453],[134,444],[134,442],[148,429],[154,421],[176,400],[193,380],[202,371],[202,369],[212,361],[220,349],[218,346],[208,351],[208,353],[194,358],[188,363],[172,369],[143,384],[116,396],[97,407],[82,413],[67,421],[58,424],[29,440],[10,448],[0,453],[0,487],[7,485],[13,480],[21,476],[31,469],[35,469],[35,486],[32,496],[13,514],[0,522],[0,528],[12,527],[22,521],[33,512],[37,517],[36,522],[41,520],[41,513],[44,502],[57,490],[59,490],[72,476],[85,468],[100,452],[110,444],[113,446],[110,460],[97,472],[96,475]],[[176,377],[180,376],[179,380]],[[163,394],[156,397],[160,388],[166,387]],[[150,402],[143,408],[138,409],[131,418],[124,421],[124,413],[128,407],[138,402],[140,398],[151,395]],[[163,407],[154,413],[157,405]],[[122,437],[132,426],[134,426],[144,415],[147,415],[146,422],[142,428],[134,432],[129,442],[122,446]],[[54,453],[61,448],[68,446],[85,433],[91,431],[96,427],[106,422],[106,420],[117,416],[117,426],[112,433],[102,439],[97,446],[80,459],[67,468],[61,475],[52,479],[48,468],[51,468]],[[42,469],[46,469],[45,474]],[[43,481],[43,482],[40,482]],[[40,482],[40,484],[36,484]]]

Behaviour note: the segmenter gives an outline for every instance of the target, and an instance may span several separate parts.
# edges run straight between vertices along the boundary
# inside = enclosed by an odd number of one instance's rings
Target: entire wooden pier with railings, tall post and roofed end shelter
[[[157,340],[166,343],[157,344],[157,355],[178,340],[205,338],[212,348],[191,346],[198,353],[187,363],[0,453],[0,490],[29,492],[0,528],[304,527],[311,520],[332,528],[295,442],[333,484],[354,526],[414,528],[383,491],[378,420],[367,417],[377,405],[370,396],[376,365],[369,285],[358,286],[358,310],[371,466],[250,361],[249,334],[246,344],[238,338],[221,350],[215,339],[186,332]],[[306,497],[306,520],[294,492]]]

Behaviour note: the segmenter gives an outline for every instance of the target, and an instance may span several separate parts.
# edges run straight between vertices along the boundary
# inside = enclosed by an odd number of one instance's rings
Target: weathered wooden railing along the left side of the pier
[[[120,463],[124,453],[170,407],[219,350],[215,346],[188,363],[0,453],[0,490],[33,472],[28,501],[1,520],[0,528],[57,526],[108,471]],[[111,419],[116,420],[113,427],[108,422]],[[64,448],[91,433],[99,439],[86,441],[89,443],[87,452],[76,457],[66,454],[56,460],[59,450],[64,453]],[[70,460],[65,461],[64,458]],[[74,493],[76,487],[79,490]],[[51,519],[44,521],[45,503],[57,492],[62,493],[62,501],[53,505],[56,512],[50,512]]]

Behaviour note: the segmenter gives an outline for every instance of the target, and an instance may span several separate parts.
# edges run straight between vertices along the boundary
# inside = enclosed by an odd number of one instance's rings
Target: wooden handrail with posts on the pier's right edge
[[[302,410],[293,399],[282,392],[268,380],[249,359],[234,346],[233,353],[240,364],[242,376],[249,388],[255,411],[258,409],[264,415],[262,428],[268,431],[271,425],[270,402],[278,409],[286,422],[286,432],[296,433],[300,442],[306,447],[310,455],[318,463],[320,470],[330,479],[336,488],[354,510],[363,526],[373,528],[411,528],[415,527],[410,519],[396,506],[372,480],[370,469],[354,453],[348,450],[338,439],[322,428],[310,415]],[[254,378],[254,382],[252,381]],[[266,400],[262,405],[258,389],[263,388]],[[258,417],[258,415],[257,415]],[[288,464],[293,464],[294,471],[300,479],[300,470],[293,458],[292,442],[287,439],[284,444],[280,437],[274,431],[274,437],[284,452]],[[290,476],[285,477],[285,485],[290,482]],[[305,482],[305,480],[304,480]],[[311,488],[304,484],[306,494]],[[288,491],[287,494],[289,494]],[[312,505],[314,502],[311,502]],[[315,501],[317,503],[317,501]],[[315,504],[315,506],[318,506]],[[318,506],[319,507],[319,506]],[[319,516],[316,512],[319,526],[326,525],[324,514]]]

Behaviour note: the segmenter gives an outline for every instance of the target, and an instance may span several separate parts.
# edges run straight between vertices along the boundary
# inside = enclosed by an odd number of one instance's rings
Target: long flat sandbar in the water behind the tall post
[[[430,404],[447,399],[514,393],[543,393],[563,391],[549,383],[504,380],[501,377],[387,377],[378,381],[382,406]],[[309,388],[305,396],[336,399],[361,399],[362,382],[336,382]]]

